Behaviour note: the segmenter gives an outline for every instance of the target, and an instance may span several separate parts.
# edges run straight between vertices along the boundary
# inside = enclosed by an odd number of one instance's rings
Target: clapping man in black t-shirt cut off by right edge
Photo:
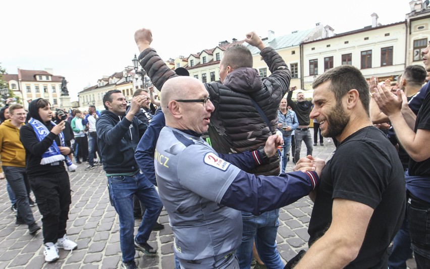
[[[430,72],[430,42],[421,51],[424,67]],[[396,136],[410,156],[406,172],[408,190],[407,220],[412,250],[418,268],[430,264],[430,94],[424,98],[421,109],[415,114],[408,107],[406,95],[398,90],[397,96],[385,87],[378,86],[373,93],[381,111],[391,121]]]

